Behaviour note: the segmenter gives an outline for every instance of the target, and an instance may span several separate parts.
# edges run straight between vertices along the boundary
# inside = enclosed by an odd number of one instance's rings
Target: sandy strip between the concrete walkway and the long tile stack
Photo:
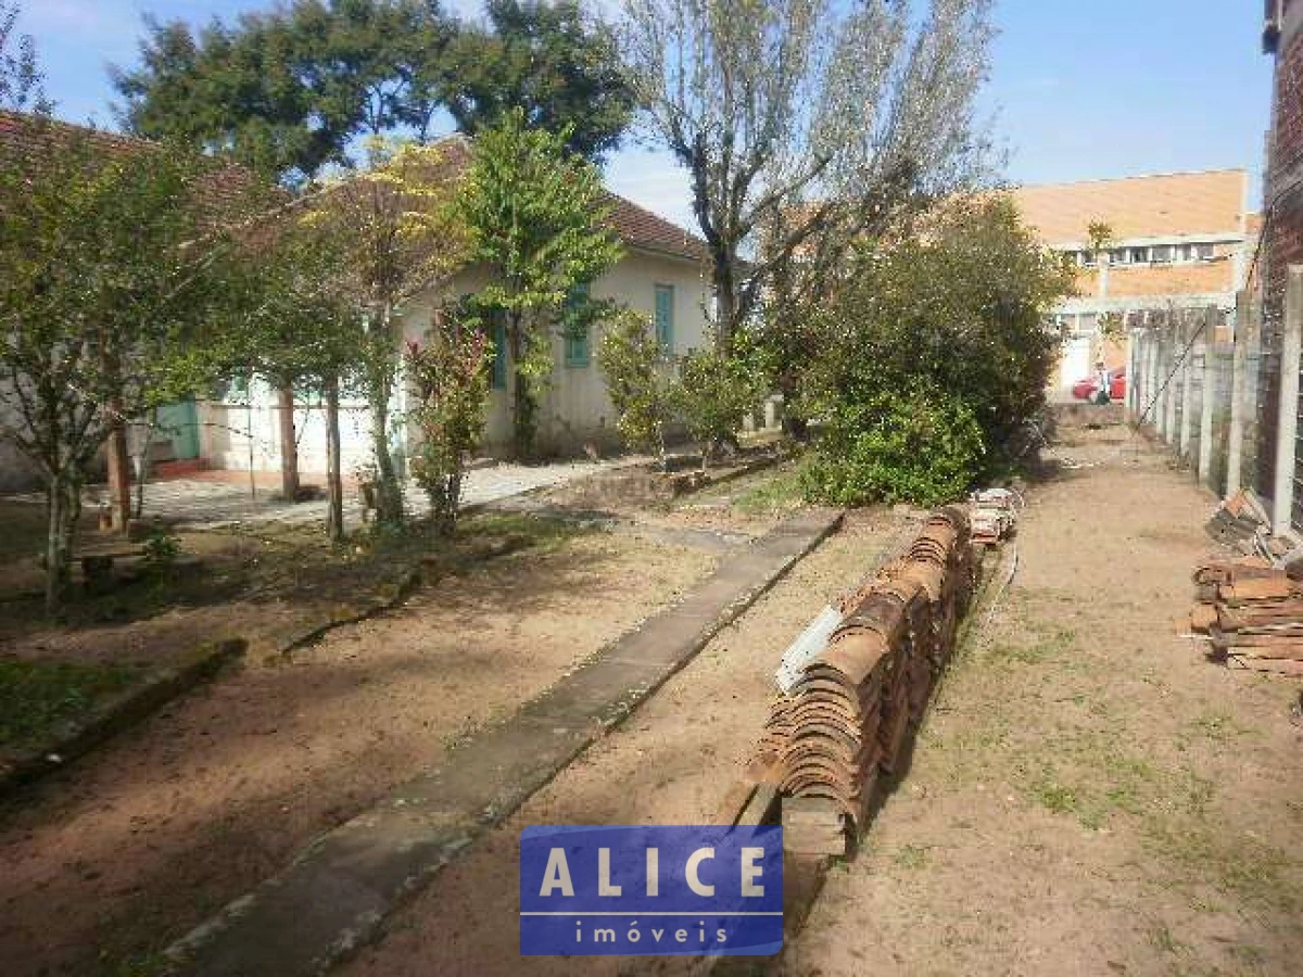
[[[753,759],[783,649],[830,599],[857,585],[902,520],[859,515],[796,564],[732,627],[499,830],[440,873],[340,977],[612,974],[615,957],[521,957],[517,839],[538,823],[714,821]]]

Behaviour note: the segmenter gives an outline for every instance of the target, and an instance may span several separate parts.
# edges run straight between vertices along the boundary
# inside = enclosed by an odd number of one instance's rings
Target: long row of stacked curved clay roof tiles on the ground
[[[830,839],[844,849],[847,832],[863,830],[880,770],[902,766],[971,589],[967,515],[942,509],[847,602],[823,651],[775,702],[761,753],[783,793],[801,799],[800,818],[784,818],[790,849],[838,853]]]

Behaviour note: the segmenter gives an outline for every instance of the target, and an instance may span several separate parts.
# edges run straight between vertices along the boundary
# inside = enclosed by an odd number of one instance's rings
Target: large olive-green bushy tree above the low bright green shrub
[[[999,448],[1044,404],[1059,345],[1045,317],[1071,290],[1007,199],[951,202],[919,231],[864,245],[839,287],[803,310],[809,358],[787,361],[797,406],[837,418],[865,392],[945,391]]]

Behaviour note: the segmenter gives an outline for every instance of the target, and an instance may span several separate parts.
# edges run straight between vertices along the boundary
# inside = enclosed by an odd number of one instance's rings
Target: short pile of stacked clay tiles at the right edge
[[[1208,636],[1214,660],[1303,676],[1303,584],[1291,572],[1265,556],[1208,560],[1195,571],[1190,627]]]

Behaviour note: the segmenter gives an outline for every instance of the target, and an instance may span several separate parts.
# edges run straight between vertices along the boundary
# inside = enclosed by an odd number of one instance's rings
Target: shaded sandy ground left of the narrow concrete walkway
[[[670,603],[715,556],[603,533],[173,702],[0,810],[7,976],[133,973],[317,834]]]

